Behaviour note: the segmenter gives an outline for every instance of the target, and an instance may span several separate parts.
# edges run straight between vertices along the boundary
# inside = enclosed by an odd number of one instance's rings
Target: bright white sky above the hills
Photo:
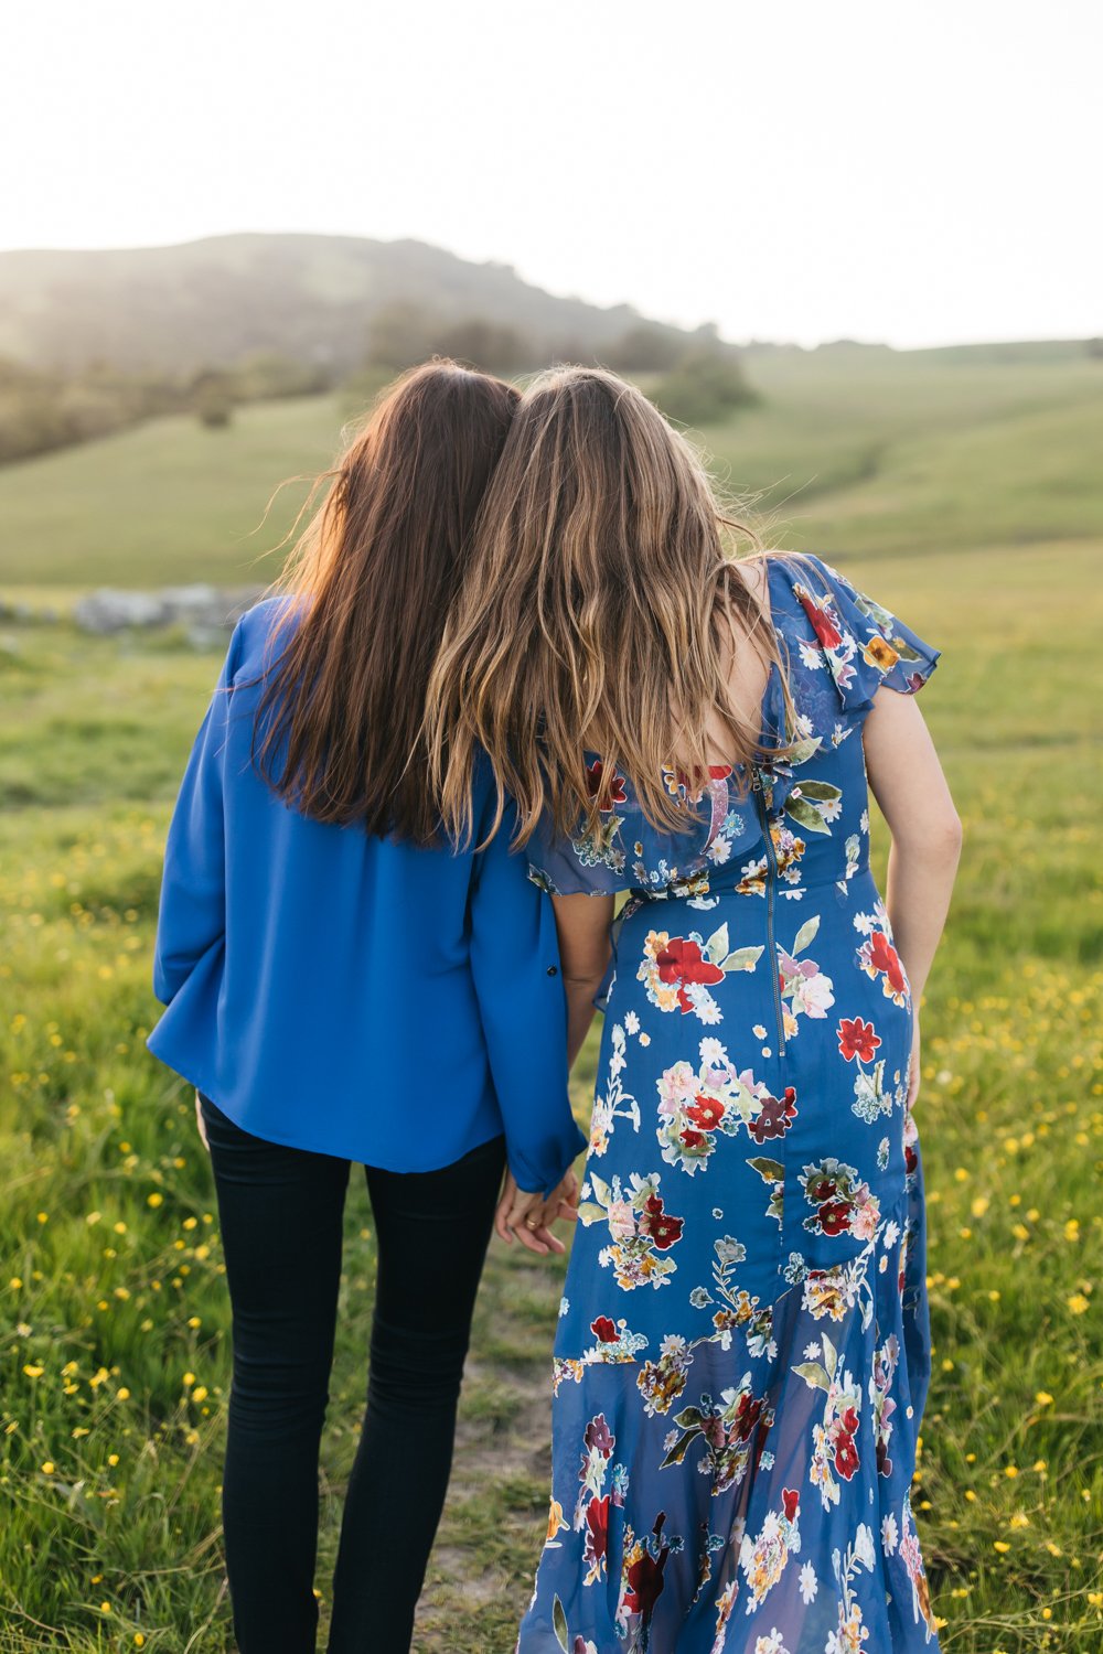
[[[1098,0],[8,0],[0,246],[418,237],[734,339],[1103,332]]]

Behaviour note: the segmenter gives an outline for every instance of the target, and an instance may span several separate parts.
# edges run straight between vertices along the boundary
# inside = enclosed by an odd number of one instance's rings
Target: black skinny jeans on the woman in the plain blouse
[[[314,1654],[318,1451],[349,1161],[203,1120],[233,1305],[222,1513],[241,1654]],[[501,1138],[440,1171],[367,1166],[379,1275],[329,1654],[407,1654],[440,1520]]]

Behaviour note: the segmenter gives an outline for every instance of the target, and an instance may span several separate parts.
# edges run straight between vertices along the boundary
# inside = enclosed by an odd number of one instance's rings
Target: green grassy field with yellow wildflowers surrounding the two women
[[[924,705],[967,842],[924,1006],[936,1351],[919,1532],[946,1649],[1095,1654],[1103,374],[1053,357],[997,389],[1005,364],[948,356],[908,362],[893,389],[883,361],[828,356],[771,361],[771,404],[706,438],[739,485],[787,478],[774,504],[800,486],[781,508],[790,539],[835,554],[946,652]],[[202,461],[223,437],[172,425],[0,473],[0,595],[236,577],[240,524],[275,480],[327,457],[334,423],[322,405],[250,410],[217,486]],[[139,450],[167,466],[174,509]],[[190,1098],[142,1049],[164,829],[215,672],[172,638],[0,627],[0,1654],[233,1646],[213,1189]],[[580,1113],[592,1062],[590,1045]],[[372,1270],[354,1184],[322,1621]],[[546,1520],[559,1277],[493,1250],[422,1654],[513,1647]]]

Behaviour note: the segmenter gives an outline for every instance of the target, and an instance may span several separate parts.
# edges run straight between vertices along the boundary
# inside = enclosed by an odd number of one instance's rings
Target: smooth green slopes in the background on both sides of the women
[[[1103,362],[1057,352],[751,352],[761,405],[703,432],[769,536],[845,557],[1103,538]],[[258,581],[354,412],[193,418],[0,470],[0,589]],[[266,556],[268,554],[268,556]],[[260,559],[260,561],[258,561]]]

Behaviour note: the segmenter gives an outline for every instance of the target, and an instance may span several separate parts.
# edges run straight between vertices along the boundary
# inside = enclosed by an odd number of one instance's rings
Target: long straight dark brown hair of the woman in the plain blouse
[[[501,379],[427,362],[326,473],[278,582],[289,600],[253,738],[265,779],[318,820],[438,840],[425,691],[518,400]]]

